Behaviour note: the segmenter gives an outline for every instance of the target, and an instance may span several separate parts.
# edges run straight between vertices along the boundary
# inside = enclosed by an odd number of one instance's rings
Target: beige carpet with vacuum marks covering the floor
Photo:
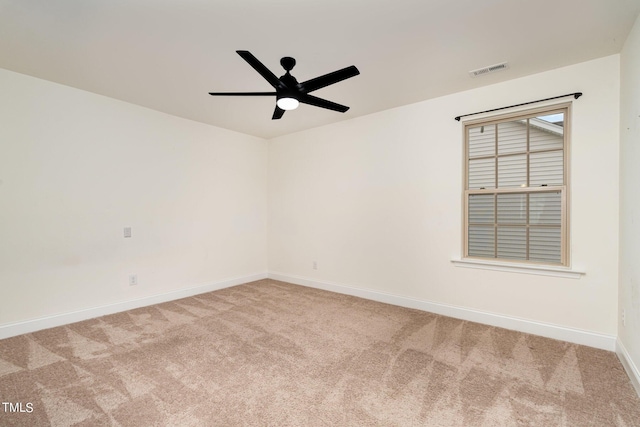
[[[2,340],[0,400],[3,427],[640,426],[614,353],[273,280]]]

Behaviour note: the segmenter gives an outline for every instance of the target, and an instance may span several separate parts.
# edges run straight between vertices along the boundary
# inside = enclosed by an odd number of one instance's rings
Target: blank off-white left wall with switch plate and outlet
[[[0,93],[0,326],[266,275],[267,141],[1,69]]]

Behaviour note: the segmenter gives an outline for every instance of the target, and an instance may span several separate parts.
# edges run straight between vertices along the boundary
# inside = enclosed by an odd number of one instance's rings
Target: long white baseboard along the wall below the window
[[[415,308],[422,311],[428,311],[430,313],[441,314],[444,316],[455,317],[457,319],[483,323],[528,334],[540,335],[547,338],[572,342],[603,350],[616,350],[616,337],[612,335],[598,334],[579,329],[567,328],[564,326],[536,322],[533,320],[519,319],[501,314],[473,310],[465,307],[418,300],[369,289],[355,288],[342,284],[320,282],[305,277],[291,276],[277,272],[269,272],[269,278],[311,288],[357,296],[387,304],[398,305],[401,307]]]

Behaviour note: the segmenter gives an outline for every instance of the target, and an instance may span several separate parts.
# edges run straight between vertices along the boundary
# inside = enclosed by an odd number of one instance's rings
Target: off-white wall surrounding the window
[[[463,154],[462,125],[453,118],[576,91],[584,96],[573,106],[571,251],[573,267],[586,275],[454,266],[451,259],[461,255]],[[619,96],[614,55],[271,140],[270,274],[614,342]]]

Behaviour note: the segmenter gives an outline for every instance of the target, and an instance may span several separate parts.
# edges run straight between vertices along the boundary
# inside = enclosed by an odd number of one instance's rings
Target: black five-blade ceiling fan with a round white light
[[[349,109],[345,105],[327,101],[317,96],[309,95],[309,92],[321,89],[323,87],[338,83],[342,80],[357,76],[360,71],[354,66],[343,68],[332,73],[324,74],[314,79],[298,83],[295,77],[289,73],[296,65],[296,60],[285,56],[280,60],[280,65],[285,69],[286,73],[277,78],[265,65],[258,60],[253,54],[247,50],[237,50],[238,55],[249,63],[271,86],[275,92],[209,92],[213,96],[274,96],[276,97],[276,108],[273,111],[272,120],[282,117],[286,110],[294,110],[298,105],[303,104],[315,105],[316,107],[326,108],[328,110],[339,111],[344,113]]]

